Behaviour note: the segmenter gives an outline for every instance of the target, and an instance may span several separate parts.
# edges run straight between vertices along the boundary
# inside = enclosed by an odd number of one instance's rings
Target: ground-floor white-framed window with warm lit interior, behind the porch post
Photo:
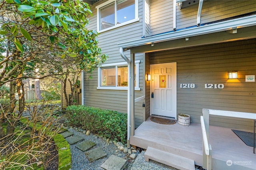
[[[140,90],[139,82],[139,63],[135,62],[134,67],[134,84],[135,90]],[[128,86],[128,65],[125,62],[113,64],[102,64],[98,67],[98,87],[97,89],[113,89],[113,90],[127,90]]]

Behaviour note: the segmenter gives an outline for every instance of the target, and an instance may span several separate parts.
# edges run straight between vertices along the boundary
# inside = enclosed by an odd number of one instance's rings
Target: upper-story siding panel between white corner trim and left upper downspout
[[[150,35],[173,30],[173,1],[152,0],[150,2]]]

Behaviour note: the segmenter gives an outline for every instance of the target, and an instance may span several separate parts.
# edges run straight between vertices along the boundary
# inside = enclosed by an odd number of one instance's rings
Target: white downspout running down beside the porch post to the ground
[[[130,70],[130,63],[131,61],[126,57],[126,55],[124,55],[124,49],[122,47],[119,48],[120,50],[120,55],[121,57],[127,62],[128,64],[128,70]],[[130,145],[130,129],[131,129],[131,125],[130,125],[130,115],[131,115],[131,111],[130,111],[130,71],[128,71],[128,90],[127,90],[127,148],[131,148]]]

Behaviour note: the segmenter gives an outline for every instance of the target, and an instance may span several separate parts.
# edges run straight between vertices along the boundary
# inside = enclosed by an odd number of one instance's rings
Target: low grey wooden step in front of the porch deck
[[[195,170],[194,160],[171,154],[162,150],[154,149],[152,147],[147,148],[144,156],[147,162],[149,159],[151,159],[155,160],[156,162],[178,168],[180,170]]]

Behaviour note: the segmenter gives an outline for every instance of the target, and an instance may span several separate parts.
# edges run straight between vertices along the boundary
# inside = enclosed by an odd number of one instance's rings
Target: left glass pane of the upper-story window
[[[115,25],[115,4],[100,8],[100,30],[112,27]]]

